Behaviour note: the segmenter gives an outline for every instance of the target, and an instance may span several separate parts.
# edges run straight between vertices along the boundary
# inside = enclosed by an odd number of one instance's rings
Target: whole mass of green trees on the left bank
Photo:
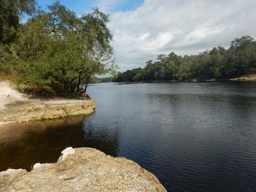
[[[109,15],[92,11],[78,17],[59,1],[41,10],[35,0],[0,0],[0,74],[79,92],[93,75],[115,73]]]

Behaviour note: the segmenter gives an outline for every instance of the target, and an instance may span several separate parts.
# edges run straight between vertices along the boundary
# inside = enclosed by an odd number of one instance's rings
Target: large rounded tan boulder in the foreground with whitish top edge
[[[2,191],[166,191],[157,178],[126,158],[92,148],[66,148],[57,163],[31,172],[0,172]]]

